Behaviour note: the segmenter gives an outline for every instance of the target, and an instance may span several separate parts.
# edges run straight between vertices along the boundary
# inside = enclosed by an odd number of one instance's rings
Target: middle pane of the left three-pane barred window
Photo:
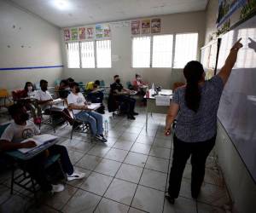
[[[81,42],[82,68],[95,68],[95,56],[93,42]]]

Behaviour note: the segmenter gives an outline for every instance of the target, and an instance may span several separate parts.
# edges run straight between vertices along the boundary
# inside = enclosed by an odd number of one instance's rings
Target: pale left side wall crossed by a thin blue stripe
[[[59,28],[0,0],[0,68],[59,65],[62,65]],[[41,78],[51,85],[61,75],[62,67],[0,71],[0,87],[22,88],[26,81],[36,83]]]

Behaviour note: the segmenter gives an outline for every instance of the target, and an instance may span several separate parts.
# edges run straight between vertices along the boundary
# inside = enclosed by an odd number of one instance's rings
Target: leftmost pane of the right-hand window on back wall
[[[132,67],[150,67],[150,37],[132,38]]]

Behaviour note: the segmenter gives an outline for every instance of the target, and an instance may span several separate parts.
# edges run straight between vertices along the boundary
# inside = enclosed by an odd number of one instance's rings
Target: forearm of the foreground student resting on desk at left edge
[[[31,148],[31,147],[36,147],[37,144],[35,141],[26,141],[24,143],[15,143],[11,141],[6,141],[6,140],[0,140],[0,153],[5,152],[5,151],[10,151],[10,150],[15,150],[19,148]]]

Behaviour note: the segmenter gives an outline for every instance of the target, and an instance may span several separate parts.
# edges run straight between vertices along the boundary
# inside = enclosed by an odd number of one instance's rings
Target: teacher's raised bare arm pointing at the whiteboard
[[[218,72],[218,76],[222,78],[224,84],[228,81],[231,70],[236,63],[238,50],[241,49],[242,47],[242,44],[240,42],[241,42],[241,38],[230,49],[230,55],[225,60],[225,64],[221,68],[220,72]]]

